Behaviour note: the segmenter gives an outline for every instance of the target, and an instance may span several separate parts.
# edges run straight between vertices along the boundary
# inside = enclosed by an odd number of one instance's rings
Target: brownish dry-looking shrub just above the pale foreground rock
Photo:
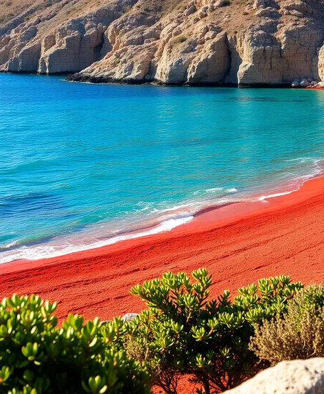
[[[288,303],[288,314],[257,327],[251,350],[272,364],[324,357],[324,286],[301,290]]]

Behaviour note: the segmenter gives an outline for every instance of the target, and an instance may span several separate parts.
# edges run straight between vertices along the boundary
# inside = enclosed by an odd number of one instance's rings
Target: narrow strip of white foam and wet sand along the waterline
[[[321,160],[317,160],[316,162],[321,162]],[[318,165],[318,164],[316,164]],[[320,167],[319,167],[320,168]],[[163,220],[156,221],[157,218],[154,219],[148,219],[148,221],[141,223],[141,226],[138,228],[134,228],[132,230],[124,230],[124,232],[119,232],[115,234],[112,237],[100,239],[100,237],[94,242],[94,243],[84,243],[82,245],[76,245],[74,246],[75,250],[65,250],[58,248],[56,251],[51,252],[51,254],[47,255],[42,255],[41,253],[34,254],[34,258],[30,258],[29,256],[21,256],[21,257],[16,257],[15,259],[12,259],[10,261],[1,261],[0,259],[0,267],[2,265],[8,265],[8,264],[21,264],[21,263],[32,263],[32,262],[37,262],[37,261],[47,261],[49,259],[59,259],[60,257],[64,256],[69,256],[69,255],[74,255],[77,253],[86,253],[88,251],[98,251],[100,253],[100,250],[102,248],[108,248],[110,246],[114,246],[116,243],[125,243],[128,241],[132,241],[135,239],[146,239],[147,237],[154,237],[154,236],[159,236],[161,234],[170,234],[171,232],[176,232],[176,230],[179,228],[181,231],[186,230],[187,228],[192,228],[194,227],[195,229],[199,230],[201,223],[206,223],[208,221],[212,221],[212,224],[214,226],[218,226],[218,223],[221,221],[228,221],[228,220],[234,220],[240,218],[240,216],[244,216],[249,212],[254,212],[255,210],[267,208],[266,204],[269,204],[270,200],[270,205],[272,205],[274,197],[281,197],[283,195],[290,195],[291,193],[297,192],[305,182],[308,182],[316,177],[324,177],[323,169],[320,171],[316,171],[312,175],[304,175],[303,177],[299,177],[299,182],[297,182],[297,185],[295,185],[292,189],[292,186],[290,188],[285,188],[284,184],[277,184],[277,188],[272,188],[272,190],[268,190],[268,192],[264,191],[261,193],[260,191],[258,193],[251,193],[250,195],[245,195],[245,197],[240,197],[239,199],[234,199],[234,200],[228,200],[227,202],[222,202],[222,204],[209,204],[207,206],[201,206],[198,210],[195,212],[190,212],[188,211],[185,206],[183,207],[176,207],[178,208],[177,215],[176,217],[167,217]],[[295,179],[297,180],[297,179]],[[286,191],[282,191],[286,190]],[[231,191],[231,190],[225,190],[225,191]],[[235,192],[238,192],[238,190],[234,190]],[[266,194],[269,193],[269,194]],[[229,194],[231,197],[231,194]],[[228,196],[227,196],[228,197]],[[238,210],[236,209],[238,208]],[[170,208],[170,210],[166,210],[167,212],[172,212],[174,209]],[[239,212],[239,214],[238,214]],[[203,218],[200,218],[202,217]],[[160,218],[161,219],[161,218]],[[197,220],[198,219],[198,220]],[[212,219],[212,220],[211,220]],[[154,223],[155,221],[155,223]],[[193,223],[192,223],[193,222]],[[35,246],[40,246],[41,243],[35,243]],[[46,246],[46,242],[44,243]],[[14,250],[14,249],[13,249]],[[18,248],[19,250],[19,248]],[[1,255],[1,253],[0,253]],[[14,256],[12,256],[14,257]]]

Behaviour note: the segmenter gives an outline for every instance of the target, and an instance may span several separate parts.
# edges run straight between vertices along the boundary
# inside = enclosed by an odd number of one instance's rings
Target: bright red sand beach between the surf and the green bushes
[[[265,276],[324,281],[324,177],[300,190],[212,210],[171,232],[39,261],[0,265],[0,298],[40,294],[69,312],[103,320],[140,311],[132,285],[166,271],[207,267],[211,295]]]

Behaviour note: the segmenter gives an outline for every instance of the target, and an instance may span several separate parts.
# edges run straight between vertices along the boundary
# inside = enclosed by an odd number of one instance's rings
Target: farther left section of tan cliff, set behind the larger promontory
[[[104,32],[135,0],[107,0],[104,7],[98,6],[101,1],[90,3],[90,8],[83,8],[82,0],[34,4],[23,19],[0,25],[0,71],[77,72],[102,58]]]

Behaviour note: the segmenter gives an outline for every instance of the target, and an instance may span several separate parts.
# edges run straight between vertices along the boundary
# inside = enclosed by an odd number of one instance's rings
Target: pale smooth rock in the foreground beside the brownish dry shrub
[[[229,394],[324,394],[324,358],[283,361]]]

